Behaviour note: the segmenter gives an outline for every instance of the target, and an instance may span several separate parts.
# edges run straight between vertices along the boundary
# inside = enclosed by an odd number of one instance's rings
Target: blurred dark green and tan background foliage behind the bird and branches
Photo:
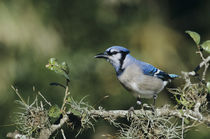
[[[137,59],[169,73],[193,70],[200,57],[184,31],[200,33],[202,41],[210,39],[209,7],[208,0],[1,0],[0,138],[14,130],[9,125],[18,111],[11,85],[24,99],[33,100],[35,86],[53,104],[62,104],[63,89],[49,83],[65,81],[45,68],[50,57],[70,65],[70,90],[76,100],[88,96],[89,104],[107,110],[126,110],[136,101],[119,84],[113,67],[93,58],[112,45],[125,46]],[[182,83],[178,79],[171,87]],[[106,95],[109,98],[98,104]],[[161,92],[157,106],[173,103],[172,95]],[[87,130],[78,138],[99,139],[114,132],[101,121],[95,132]],[[209,138],[209,132],[200,126],[186,138]],[[65,133],[75,135],[70,129]]]

